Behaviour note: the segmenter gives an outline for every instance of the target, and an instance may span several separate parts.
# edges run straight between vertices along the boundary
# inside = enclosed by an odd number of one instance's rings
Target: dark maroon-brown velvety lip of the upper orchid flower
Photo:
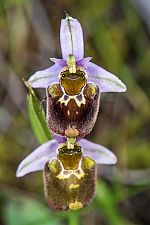
[[[47,89],[47,123],[50,130],[65,136],[65,130],[78,130],[79,137],[89,134],[99,111],[100,92],[93,83],[86,83],[83,71],[61,75],[60,83]]]

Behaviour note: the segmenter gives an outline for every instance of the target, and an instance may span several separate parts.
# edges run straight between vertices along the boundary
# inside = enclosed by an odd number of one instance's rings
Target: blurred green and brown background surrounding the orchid
[[[39,145],[22,78],[52,65],[50,57],[61,58],[64,10],[81,22],[85,56],[128,87],[101,96],[87,138],[112,149],[118,164],[98,167],[96,197],[76,213],[48,208],[42,172],[15,177],[19,162]],[[36,93],[42,100],[45,91]],[[149,0],[0,0],[0,224],[150,224],[149,98]]]

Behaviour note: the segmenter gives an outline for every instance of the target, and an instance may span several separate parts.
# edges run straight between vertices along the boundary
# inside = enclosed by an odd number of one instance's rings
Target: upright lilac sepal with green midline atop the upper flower
[[[83,58],[83,32],[78,20],[70,16],[66,16],[66,19],[61,20],[60,44],[64,60],[69,54],[73,54],[76,60]]]

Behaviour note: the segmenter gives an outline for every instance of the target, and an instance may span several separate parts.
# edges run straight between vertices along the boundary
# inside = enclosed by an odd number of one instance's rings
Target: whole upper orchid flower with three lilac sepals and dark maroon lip
[[[49,128],[65,136],[70,126],[84,137],[91,132],[99,110],[100,93],[124,92],[126,86],[112,73],[84,58],[83,32],[80,23],[70,16],[60,27],[62,59],[30,77],[33,88],[47,89]]]

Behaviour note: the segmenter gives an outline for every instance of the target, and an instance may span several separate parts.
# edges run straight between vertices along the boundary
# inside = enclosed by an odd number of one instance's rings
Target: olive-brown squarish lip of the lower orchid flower
[[[82,156],[82,150],[66,146],[59,149],[58,159],[47,162],[44,170],[45,198],[53,210],[78,210],[94,197],[96,164]]]

